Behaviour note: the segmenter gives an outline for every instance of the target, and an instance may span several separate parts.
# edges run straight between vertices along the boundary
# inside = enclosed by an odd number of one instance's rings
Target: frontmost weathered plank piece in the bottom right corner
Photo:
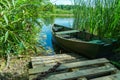
[[[104,76],[104,77],[99,77],[99,78],[94,78],[90,80],[120,80],[120,73],[116,73],[116,74]]]

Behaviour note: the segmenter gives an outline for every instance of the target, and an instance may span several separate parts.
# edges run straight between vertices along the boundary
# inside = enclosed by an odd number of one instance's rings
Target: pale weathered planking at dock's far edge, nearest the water
[[[67,54],[56,54],[52,56],[31,57],[33,68],[35,68],[37,65],[53,64],[56,62],[64,63],[64,62],[73,61],[75,59],[76,59],[75,57],[72,57]]]

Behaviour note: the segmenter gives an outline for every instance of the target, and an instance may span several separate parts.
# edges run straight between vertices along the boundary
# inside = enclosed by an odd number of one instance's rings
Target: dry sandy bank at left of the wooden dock
[[[25,55],[24,55],[25,56]],[[14,57],[10,59],[9,67],[5,68],[6,62],[0,59],[0,80],[29,80],[28,63],[29,56]]]

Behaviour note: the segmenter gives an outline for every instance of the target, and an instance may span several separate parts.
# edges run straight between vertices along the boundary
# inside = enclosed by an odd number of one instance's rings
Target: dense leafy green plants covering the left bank
[[[0,56],[35,50],[42,3],[42,0],[0,0]]]

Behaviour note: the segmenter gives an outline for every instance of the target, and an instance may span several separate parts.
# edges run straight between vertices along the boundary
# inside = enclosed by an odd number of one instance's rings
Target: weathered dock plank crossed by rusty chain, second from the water
[[[89,66],[89,65],[98,65],[98,64],[104,64],[108,63],[109,61],[105,58],[101,59],[95,59],[95,60],[87,60],[87,61],[81,61],[81,62],[73,62],[73,63],[66,63],[66,64],[61,64],[57,70],[64,70],[64,69],[69,69],[69,68],[76,68],[76,67],[83,67],[83,66]],[[33,69],[29,69],[29,74],[36,74],[39,72],[44,72],[47,71],[46,69],[40,69],[40,67],[36,67]]]

